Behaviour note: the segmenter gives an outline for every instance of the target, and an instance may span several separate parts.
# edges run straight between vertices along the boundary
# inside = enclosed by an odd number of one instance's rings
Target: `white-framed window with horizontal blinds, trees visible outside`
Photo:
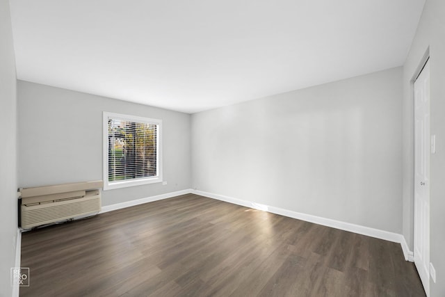
[[[104,112],[104,190],[162,182],[162,121]]]

